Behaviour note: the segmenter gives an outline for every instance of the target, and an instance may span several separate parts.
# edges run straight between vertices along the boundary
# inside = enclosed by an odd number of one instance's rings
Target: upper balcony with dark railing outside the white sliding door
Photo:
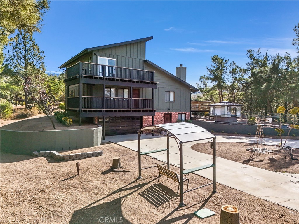
[[[67,68],[66,80],[77,77],[118,81],[135,80],[149,83],[155,81],[155,72],[111,65],[99,65],[88,62],[77,62]]]

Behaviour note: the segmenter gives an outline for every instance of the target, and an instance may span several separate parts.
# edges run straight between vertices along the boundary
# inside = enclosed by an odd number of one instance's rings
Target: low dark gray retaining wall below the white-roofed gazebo
[[[229,134],[234,134],[237,132],[238,134],[248,134],[255,136],[255,133],[257,131],[257,125],[230,125],[230,124],[220,124],[216,122],[205,122],[205,121],[196,121],[193,120],[193,124],[199,125],[202,128],[207,129],[208,131],[215,131],[215,132],[222,132]],[[285,133],[282,136],[287,136],[289,132],[289,128],[283,128]],[[263,127],[263,132],[265,135],[277,135],[277,132],[275,131],[275,128],[267,128]],[[299,130],[298,129],[292,129],[290,132],[290,136],[295,134],[296,136],[299,136]]]

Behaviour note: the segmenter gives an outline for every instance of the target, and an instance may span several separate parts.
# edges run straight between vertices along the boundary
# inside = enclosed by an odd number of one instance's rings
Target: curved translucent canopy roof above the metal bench
[[[138,130],[139,131],[152,131],[157,129],[163,129],[173,135],[174,138],[180,142],[194,142],[204,139],[216,138],[215,135],[210,133],[205,128],[191,123],[170,123],[161,125],[149,125]]]

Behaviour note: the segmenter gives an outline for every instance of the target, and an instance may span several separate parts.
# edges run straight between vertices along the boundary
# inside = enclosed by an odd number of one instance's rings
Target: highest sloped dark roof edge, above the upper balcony
[[[99,49],[108,48],[108,47],[116,47],[116,46],[126,45],[126,44],[133,44],[133,43],[142,42],[142,41],[147,42],[147,41],[149,41],[151,39],[153,39],[153,36],[149,36],[149,37],[145,37],[145,38],[141,38],[141,39],[136,39],[136,40],[130,40],[130,41],[125,41],[125,42],[120,42],[120,43],[115,43],[115,44],[108,44],[108,45],[102,45],[102,46],[98,46],[98,47],[85,48],[80,53],[76,54],[74,57],[72,57],[71,59],[69,59],[68,61],[64,62],[62,65],[60,65],[59,68],[66,67],[67,64],[71,63],[72,61],[76,60],[77,58],[79,58],[83,54],[86,54],[89,51],[99,50]]]

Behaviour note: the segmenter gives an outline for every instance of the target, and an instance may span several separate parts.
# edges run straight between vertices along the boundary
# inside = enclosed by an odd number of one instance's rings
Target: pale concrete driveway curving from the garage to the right
[[[138,151],[137,134],[106,136],[106,141],[114,142],[118,145]],[[208,140],[197,141],[185,143],[183,145],[184,169],[191,169],[213,163],[211,155],[203,154],[191,149],[192,145],[207,141]],[[268,145],[276,145],[280,143],[280,139],[265,139],[265,141]],[[216,143],[217,142],[253,143],[254,137],[216,136]],[[155,149],[167,148],[166,144],[166,137],[149,136],[144,134],[141,135],[141,151],[152,151]],[[299,148],[299,141],[288,140],[286,145]],[[164,162],[167,161],[166,151],[152,153],[150,156]],[[179,148],[175,139],[172,138],[170,138],[170,163],[172,165],[179,166]],[[138,167],[136,167],[136,169],[138,169]],[[210,180],[213,179],[212,169],[196,171],[195,173]],[[261,199],[299,211],[298,174],[272,172],[239,162],[234,162],[228,159],[216,157],[216,182],[254,195]]]

